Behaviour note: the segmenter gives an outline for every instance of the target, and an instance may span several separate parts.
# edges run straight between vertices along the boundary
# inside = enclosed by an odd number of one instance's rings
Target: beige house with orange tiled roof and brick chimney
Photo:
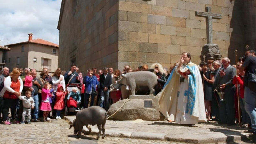
[[[33,39],[32,33],[28,35],[28,41],[5,45],[11,49],[3,58],[5,66],[10,70],[15,67],[34,68],[40,73],[47,68],[54,72],[58,68],[59,46],[43,39]]]

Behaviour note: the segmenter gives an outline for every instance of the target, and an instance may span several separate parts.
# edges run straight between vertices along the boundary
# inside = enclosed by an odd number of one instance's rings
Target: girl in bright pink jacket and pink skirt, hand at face
[[[40,105],[40,110],[44,111],[43,112],[43,117],[44,117],[44,122],[50,122],[51,120],[45,119],[50,111],[52,110],[51,105],[50,105],[50,97],[52,97],[52,94],[50,93],[50,83],[45,82],[44,83],[44,88],[42,88],[42,102]]]

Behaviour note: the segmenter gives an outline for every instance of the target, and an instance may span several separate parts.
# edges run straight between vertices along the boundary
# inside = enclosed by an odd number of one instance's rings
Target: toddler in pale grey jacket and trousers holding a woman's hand
[[[34,99],[31,97],[31,91],[27,90],[25,92],[26,96],[19,96],[19,99],[22,100],[23,104],[23,113],[22,113],[22,121],[20,124],[25,124],[25,118],[27,116],[27,123],[30,123],[31,118],[31,108],[34,109],[35,103]]]

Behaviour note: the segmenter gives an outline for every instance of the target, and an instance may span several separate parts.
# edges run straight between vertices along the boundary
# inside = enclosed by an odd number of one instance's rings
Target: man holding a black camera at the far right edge
[[[255,52],[251,51],[245,53],[247,57],[239,71],[246,71],[244,76],[245,110],[250,116],[254,136],[253,143],[256,143],[256,56]]]

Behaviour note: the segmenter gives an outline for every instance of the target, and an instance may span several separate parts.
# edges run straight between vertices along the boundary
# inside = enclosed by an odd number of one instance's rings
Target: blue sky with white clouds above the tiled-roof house
[[[0,46],[40,38],[59,44],[61,0],[0,0]]]

